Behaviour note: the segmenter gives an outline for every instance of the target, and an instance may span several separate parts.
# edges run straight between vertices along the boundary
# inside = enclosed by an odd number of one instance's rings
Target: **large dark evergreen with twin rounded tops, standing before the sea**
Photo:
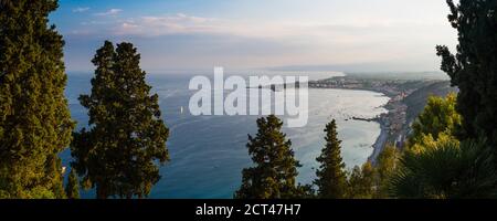
[[[72,166],[99,199],[147,197],[160,179],[157,162],[169,160],[169,129],[139,61],[133,44],[106,41],[92,61],[92,94],[80,97],[91,127],[74,135]]]

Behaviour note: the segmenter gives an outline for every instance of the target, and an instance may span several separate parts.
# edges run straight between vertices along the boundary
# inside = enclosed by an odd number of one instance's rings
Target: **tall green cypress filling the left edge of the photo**
[[[74,123],[64,97],[56,0],[0,1],[0,196],[64,198],[59,154]]]

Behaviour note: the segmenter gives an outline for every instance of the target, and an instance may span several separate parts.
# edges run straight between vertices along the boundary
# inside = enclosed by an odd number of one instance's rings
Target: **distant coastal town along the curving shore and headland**
[[[381,114],[374,118],[363,118],[353,116],[348,120],[367,120],[378,122],[381,125],[381,134],[377,143],[373,145],[374,151],[370,160],[374,164],[379,154],[387,145],[393,145],[402,148],[406,137],[410,134],[411,125],[415,117],[420,114],[420,109],[424,107],[430,95],[446,95],[452,88],[446,90],[446,86],[441,86],[438,92],[430,92],[423,88],[432,84],[448,84],[444,81],[427,81],[427,80],[385,80],[385,78],[369,78],[358,76],[337,76],[327,80],[309,82],[309,88],[339,88],[339,90],[364,90],[382,93],[390,97],[384,108],[388,113]],[[422,93],[421,102],[409,102],[413,94]],[[410,106],[411,105],[411,106]],[[419,105],[423,105],[420,107]],[[415,106],[415,107],[414,107]],[[410,113],[411,112],[411,113]],[[412,113],[415,112],[415,113]]]

